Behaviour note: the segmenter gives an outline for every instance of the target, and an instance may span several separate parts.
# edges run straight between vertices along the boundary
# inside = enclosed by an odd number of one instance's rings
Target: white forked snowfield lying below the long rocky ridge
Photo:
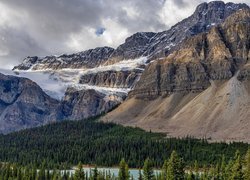
[[[105,71],[129,71],[134,69],[142,69],[141,65],[147,63],[147,57],[141,57],[138,59],[124,60],[118,63],[99,66],[92,69],[62,69],[62,70],[6,70],[0,69],[0,73],[6,75],[14,75],[19,77],[25,77],[36,82],[49,96],[61,100],[68,87],[74,87],[77,90],[94,89],[98,92],[109,95],[124,96],[131,89],[129,88],[108,88],[100,86],[91,86],[88,84],[79,84],[80,77],[85,74],[95,74]]]

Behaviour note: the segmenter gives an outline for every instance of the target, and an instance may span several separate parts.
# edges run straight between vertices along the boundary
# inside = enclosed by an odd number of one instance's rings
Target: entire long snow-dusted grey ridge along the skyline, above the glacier
[[[149,57],[150,60],[165,57],[184,39],[210,30],[239,9],[249,9],[249,7],[246,4],[222,1],[202,3],[190,17],[167,31],[135,33],[116,49],[100,47],[58,57],[27,57],[23,63],[14,67],[14,70],[86,69],[139,57]]]

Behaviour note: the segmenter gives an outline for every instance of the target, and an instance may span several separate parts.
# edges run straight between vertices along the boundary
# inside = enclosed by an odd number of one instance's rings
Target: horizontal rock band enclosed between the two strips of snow
[[[127,71],[103,71],[81,76],[80,84],[111,88],[133,88],[142,73],[141,69]]]

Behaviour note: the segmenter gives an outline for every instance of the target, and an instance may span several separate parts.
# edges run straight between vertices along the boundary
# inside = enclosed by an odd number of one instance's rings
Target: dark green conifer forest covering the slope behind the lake
[[[228,163],[236,151],[244,156],[245,143],[209,143],[206,140],[168,138],[139,128],[123,127],[97,119],[64,121],[43,127],[0,135],[0,161],[49,169],[70,168],[79,162],[118,166],[122,158],[129,167],[143,167],[145,159],[160,168],[176,151],[185,167]]]

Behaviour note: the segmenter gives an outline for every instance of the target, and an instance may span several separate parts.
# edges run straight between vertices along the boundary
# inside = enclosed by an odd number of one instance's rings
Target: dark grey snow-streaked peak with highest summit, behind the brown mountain
[[[249,9],[249,7],[246,4],[225,4],[222,1],[202,3],[196,8],[194,14],[167,31],[154,34],[136,33],[127,38],[125,43],[114,51],[111,59],[116,62],[140,56],[149,56],[151,60],[165,57],[184,39],[210,30],[239,9]]]

